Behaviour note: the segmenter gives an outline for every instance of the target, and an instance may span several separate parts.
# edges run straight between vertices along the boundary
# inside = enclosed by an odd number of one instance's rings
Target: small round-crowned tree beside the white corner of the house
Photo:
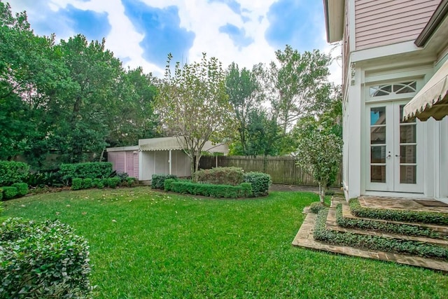
[[[319,197],[323,203],[325,188],[339,172],[342,157],[342,139],[323,130],[302,134],[298,140],[297,165],[311,174],[319,185]]]

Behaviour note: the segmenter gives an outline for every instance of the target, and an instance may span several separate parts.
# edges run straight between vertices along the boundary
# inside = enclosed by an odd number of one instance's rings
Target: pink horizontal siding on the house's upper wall
[[[356,50],[413,41],[440,0],[356,0]]]

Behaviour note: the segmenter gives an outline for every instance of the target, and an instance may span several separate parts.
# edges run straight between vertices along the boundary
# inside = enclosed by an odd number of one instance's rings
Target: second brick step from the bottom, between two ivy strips
[[[370,220],[370,219],[369,219]],[[373,221],[377,221],[378,219],[373,219]],[[336,221],[336,207],[330,207],[328,211],[327,221],[326,221],[326,228],[328,230],[335,230],[338,232],[351,232],[358,235],[374,235],[378,237],[386,237],[391,239],[404,239],[409,241],[416,241],[416,242],[424,242],[428,244],[435,244],[438,246],[444,246],[448,247],[448,239],[434,239],[430,237],[416,237],[416,236],[409,236],[409,235],[401,235],[401,234],[395,234],[391,232],[381,232],[378,230],[364,230],[364,229],[356,229],[356,228],[342,228],[337,224]]]

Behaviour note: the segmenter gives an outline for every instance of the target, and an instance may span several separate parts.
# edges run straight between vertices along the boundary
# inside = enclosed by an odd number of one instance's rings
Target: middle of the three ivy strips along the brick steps
[[[344,218],[344,216],[342,215],[342,204],[337,204],[336,221],[337,225],[341,226],[342,228],[359,228],[361,230],[378,230],[381,232],[392,232],[401,235],[417,237],[448,239],[447,236],[440,235],[439,232],[421,225],[381,222],[365,218]]]

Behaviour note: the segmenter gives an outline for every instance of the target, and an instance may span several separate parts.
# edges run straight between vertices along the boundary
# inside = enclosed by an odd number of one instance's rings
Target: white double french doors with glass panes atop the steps
[[[402,121],[405,104],[367,106],[367,191],[423,193],[421,127]]]

